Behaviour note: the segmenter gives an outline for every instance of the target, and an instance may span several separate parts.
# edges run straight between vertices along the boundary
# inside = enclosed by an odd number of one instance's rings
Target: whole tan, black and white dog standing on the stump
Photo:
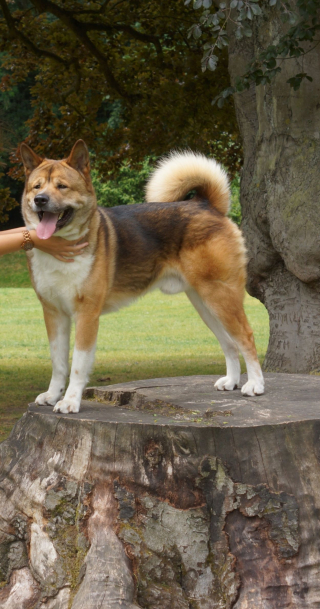
[[[88,241],[85,253],[66,264],[38,249],[28,252],[31,279],[40,299],[50,342],[52,378],[36,398],[61,413],[79,412],[93,366],[99,317],[155,288],[185,292],[219,340],[226,376],[215,387],[239,385],[242,352],[248,380],[243,395],[264,392],[252,330],[243,299],[246,249],[228,218],[226,173],[212,159],[174,152],[160,161],[146,187],[146,202],[101,208],[90,178],[88,149],[78,140],[68,158],[40,158],[21,145],[26,182],[22,214],[38,236]],[[193,198],[186,200],[190,191]],[[69,386],[69,337],[75,319],[75,348]],[[64,393],[65,392],[65,393]]]

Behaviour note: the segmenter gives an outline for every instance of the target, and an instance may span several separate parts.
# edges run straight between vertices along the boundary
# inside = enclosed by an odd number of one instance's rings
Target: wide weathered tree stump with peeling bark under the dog
[[[320,379],[29,406],[0,445],[1,609],[320,607]]]

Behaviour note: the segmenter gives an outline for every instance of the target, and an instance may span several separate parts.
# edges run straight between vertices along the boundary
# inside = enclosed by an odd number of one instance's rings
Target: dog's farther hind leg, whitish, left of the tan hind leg
[[[198,311],[201,319],[203,319],[211,332],[216,335],[226,358],[227,376],[218,379],[214,386],[218,391],[232,391],[240,383],[241,370],[238,347],[224,329],[221,321],[214,315],[213,311],[208,309],[197,292],[195,290],[188,290],[186,294],[194,308]]]

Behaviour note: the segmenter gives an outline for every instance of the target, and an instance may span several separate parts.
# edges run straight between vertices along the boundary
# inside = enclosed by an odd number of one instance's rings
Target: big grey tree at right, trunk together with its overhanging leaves
[[[208,0],[197,2],[208,19]],[[248,13],[253,9],[255,17]],[[220,46],[229,43],[232,86],[218,96],[218,103],[235,94],[244,150],[241,206],[249,253],[248,290],[265,304],[270,318],[264,368],[317,371],[319,3],[231,0],[218,3],[212,14],[219,23],[213,24],[215,37],[203,62],[226,28]]]

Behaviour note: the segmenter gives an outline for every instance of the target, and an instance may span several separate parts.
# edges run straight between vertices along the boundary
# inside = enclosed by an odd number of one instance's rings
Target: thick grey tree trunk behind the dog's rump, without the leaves
[[[230,36],[233,82],[284,32],[278,13],[264,7],[252,39],[237,42]],[[248,290],[270,316],[267,370],[320,368],[320,46],[314,46],[298,60],[282,61],[271,85],[235,95],[244,146],[241,206]],[[286,81],[299,72],[307,72],[313,82],[293,91]]]

